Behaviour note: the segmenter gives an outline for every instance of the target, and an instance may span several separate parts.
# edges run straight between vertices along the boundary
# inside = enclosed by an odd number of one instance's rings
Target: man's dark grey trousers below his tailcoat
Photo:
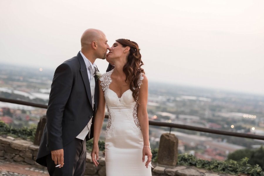
[[[63,147],[64,165],[55,167],[51,154],[46,157],[47,168],[51,176],[82,176],[86,163],[86,140],[75,138]]]

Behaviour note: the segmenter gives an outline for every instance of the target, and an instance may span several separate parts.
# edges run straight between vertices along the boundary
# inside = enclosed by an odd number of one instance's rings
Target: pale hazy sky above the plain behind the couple
[[[0,63],[55,70],[97,28],[137,42],[150,81],[264,94],[263,0],[1,0],[0,21]]]

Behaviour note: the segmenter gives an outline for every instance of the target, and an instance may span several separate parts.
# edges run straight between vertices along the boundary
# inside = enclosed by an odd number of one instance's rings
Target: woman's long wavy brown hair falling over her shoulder
[[[129,46],[129,55],[126,64],[123,67],[123,72],[126,75],[126,81],[129,82],[129,88],[133,92],[133,98],[136,103],[138,103],[138,80],[141,73],[145,74],[143,68],[141,68],[144,63],[141,60],[140,49],[138,48],[138,44],[136,42],[130,41],[128,39],[120,38],[116,40],[123,47]]]

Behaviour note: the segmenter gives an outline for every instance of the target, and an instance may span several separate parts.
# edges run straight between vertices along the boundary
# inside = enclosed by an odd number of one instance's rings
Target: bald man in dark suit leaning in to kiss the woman
[[[106,58],[109,45],[102,31],[87,29],[81,46],[77,56],[57,67],[51,84],[47,123],[36,158],[50,175],[84,175],[86,141],[93,138],[99,96],[94,61]]]

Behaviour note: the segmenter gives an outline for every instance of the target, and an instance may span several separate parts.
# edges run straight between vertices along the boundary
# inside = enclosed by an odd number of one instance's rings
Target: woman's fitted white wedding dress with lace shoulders
[[[106,126],[105,163],[107,176],[151,176],[142,162],[143,137],[137,117],[138,105],[128,89],[119,98],[109,89],[113,70],[100,78],[109,115]],[[142,73],[138,85],[142,84]]]

